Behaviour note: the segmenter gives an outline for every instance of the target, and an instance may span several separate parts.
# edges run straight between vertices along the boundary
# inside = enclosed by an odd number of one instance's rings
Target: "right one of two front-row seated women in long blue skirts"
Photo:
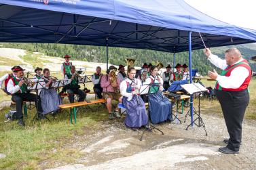
[[[156,124],[170,120],[172,104],[162,93],[163,80],[158,77],[157,66],[151,66],[151,75],[146,79],[145,85],[150,84],[149,88],[149,114],[151,122]]]

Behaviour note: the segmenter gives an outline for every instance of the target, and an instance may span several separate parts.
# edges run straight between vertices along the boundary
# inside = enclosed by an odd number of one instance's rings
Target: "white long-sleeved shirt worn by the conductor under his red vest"
[[[221,68],[221,70],[225,70],[225,68],[227,68],[228,66],[225,60],[213,54],[208,57],[208,60],[218,68]],[[244,59],[241,58],[238,62],[242,62],[242,60]],[[235,64],[237,64],[238,62],[236,62]],[[242,83],[244,83],[246,77],[248,77],[249,74],[249,70],[247,70],[243,66],[238,66],[234,68],[234,70],[232,70],[232,72],[230,73],[230,77],[218,75],[216,81],[218,81],[219,85],[221,85],[221,87],[223,88],[237,89],[242,85]]]

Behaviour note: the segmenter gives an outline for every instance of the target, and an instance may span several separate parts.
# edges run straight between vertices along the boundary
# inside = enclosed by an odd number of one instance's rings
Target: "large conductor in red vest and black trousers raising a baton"
[[[221,104],[227,131],[230,134],[230,139],[223,141],[227,146],[219,148],[219,151],[225,154],[239,153],[242,121],[249,104],[251,67],[236,48],[225,51],[225,60],[213,55],[208,48],[204,49],[204,54],[212,64],[223,70],[221,75],[215,70],[208,71],[208,76],[217,81],[215,94]]]

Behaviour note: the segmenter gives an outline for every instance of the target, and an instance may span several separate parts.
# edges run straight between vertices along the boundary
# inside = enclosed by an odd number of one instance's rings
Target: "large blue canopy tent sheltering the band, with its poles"
[[[256,41],[180,0],[0,0],[0,41],[68,43],[177,53]],[[191,77],[190,77],[190,82]],[[191,122],[193,122],[191,98]]]

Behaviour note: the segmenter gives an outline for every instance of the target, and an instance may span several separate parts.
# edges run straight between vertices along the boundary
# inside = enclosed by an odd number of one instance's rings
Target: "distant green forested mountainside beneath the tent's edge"
[[[106,62],[106,47],[95,47],[89,45],[65,45],[65,44],[49,44],[49,43],[0,43],[0,47],[9,47],[17,49],[25,49],[33,52],[41,52],[47,56],[60,57],[69,54],[73,59],[83,60],[87,62]],[[234,45],[242,52],[244,58],[249,60],[250,65],[256,71],[256,62],[251,61],[252,56],[256,56],[256,44]],[[224,56],[224,52],[228,47],[215,47],[211,50],[220,57]],[[0,54],[1,56],[1,54]],[[141,66],[143,63],[151,62],[157,64],[162,62],[164,66],[173,63],[173,54],[152,51],[144,49],[126,49],[109,47],[109,63],[126,65],[126,58],[134,58],[136,62],[134,66]],[[192,53],[192,66],[197,68],[202,75],[206,75],[208,70],[213,70],[214,66],[206,60],[202,49],[194,50]],[[176,63],[188,63],[188,53],[183,52],[176,54]]]

